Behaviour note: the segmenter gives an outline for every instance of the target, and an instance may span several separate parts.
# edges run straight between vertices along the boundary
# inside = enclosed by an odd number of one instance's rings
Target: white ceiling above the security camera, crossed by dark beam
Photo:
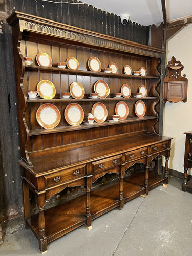
[[[129,14],[132,22],[144,26],[163,21],[161,0],[85,0],[93,5],[117,16]],[[167,21],[192,15],[191,0],[166,0]]]

